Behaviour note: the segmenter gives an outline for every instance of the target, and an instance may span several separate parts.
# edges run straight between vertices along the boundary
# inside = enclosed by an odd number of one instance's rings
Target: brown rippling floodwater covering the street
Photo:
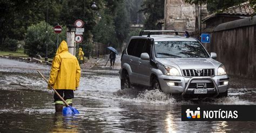
[[[55,114],[53,92],[36,72],[49,76],[50,67],[0,62],[0,132],[256,131],[256,122],[183,122],[180,115],[181,105],[256,105],[254,82],[231,79],[227,98],[181,100],[145,88],[120,90],[115,69],[83,70],[73,100],[80,114],[64,117]]]

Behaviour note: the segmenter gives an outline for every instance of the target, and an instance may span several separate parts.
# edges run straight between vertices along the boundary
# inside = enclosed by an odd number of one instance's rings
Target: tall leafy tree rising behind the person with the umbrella
[[[107,1],[98,14],[99,22],[93,28],[93,40],[115,48],[121,47],[130,31],[130,15],[125,1]]]

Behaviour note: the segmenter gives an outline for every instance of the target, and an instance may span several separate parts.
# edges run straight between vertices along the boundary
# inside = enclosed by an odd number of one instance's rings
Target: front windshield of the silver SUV
[[[206,50],[197,41],[158,41],[154,42],[158,58],[206,58]]]

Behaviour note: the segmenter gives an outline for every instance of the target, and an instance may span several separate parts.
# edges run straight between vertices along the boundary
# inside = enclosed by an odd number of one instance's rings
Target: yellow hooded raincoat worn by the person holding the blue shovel
[[[66,41],[62,41],[52,61],[49,84],[56,90],[76,90],[80,73],[77,58],[69,53]]]

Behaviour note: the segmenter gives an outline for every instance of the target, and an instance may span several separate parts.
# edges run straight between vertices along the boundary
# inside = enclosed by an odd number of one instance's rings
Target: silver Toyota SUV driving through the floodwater
[[[165,32],[175,34],[151,35]],[[187,32],[141,31],[139,36],[131,37],[123,51],[121,89],[144,85],[183,97],[227,97],[229,77],[215,58],[216,53],[208,54]]]

